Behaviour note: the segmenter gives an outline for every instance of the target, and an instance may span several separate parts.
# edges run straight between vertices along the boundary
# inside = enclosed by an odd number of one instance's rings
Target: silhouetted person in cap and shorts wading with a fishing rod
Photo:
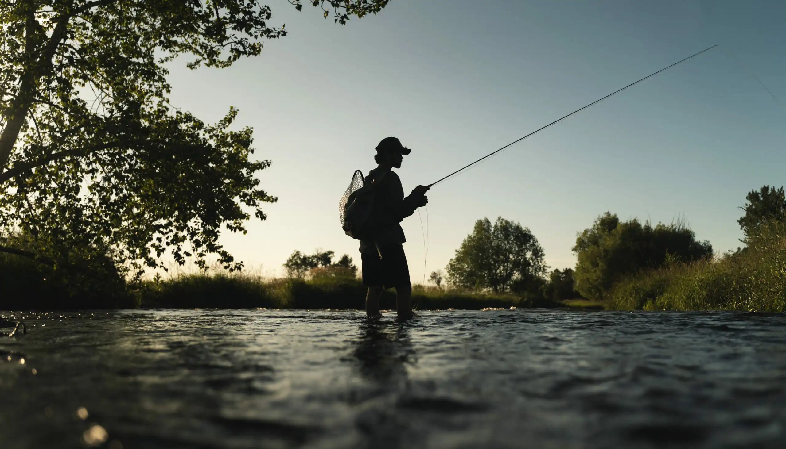
[[[404,198],[399,175],[393,168],[401,168],[404,155],[409,148],[402,146],[399,139],[385,137],[376,145],[376,169],[365,177],[366,183],[375,185],[373,210],[374,228],[372,238],[361,239],[360,253],[363,265],[363,285],[369,287],[365,297],[365,312],[369,317],[380,316],[380,296],[384,288],[395,288],[396,310],[399,318],[410,318],[412,306],[410,296],[410,268],[402,243],[406,242],[401,221],[414,214],[418,207],[428,203],[425,192],[428,187],[419,185]]]

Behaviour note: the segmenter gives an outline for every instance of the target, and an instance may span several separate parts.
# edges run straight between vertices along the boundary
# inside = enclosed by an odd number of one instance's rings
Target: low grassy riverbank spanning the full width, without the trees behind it
[[[690,263],[670,261],[629,276],[603,301],[550,301],[542,295],[520,297],[477,290],[413,287],[419,310],[447,308],[570,308],[572,310],[786,310],[786,225],[762,228],[734,254]],[[74,294],[73,278],[28,258],[0,254],[0,310],[85,308],[304,308],[363,309],[365,288],[354,277],[270,279],[252,273],[185,274],[141,283],[102,283],[82,275]],[[107,287],[107,285],[109,287]],[[383,308],[395,308],[387,290]]]

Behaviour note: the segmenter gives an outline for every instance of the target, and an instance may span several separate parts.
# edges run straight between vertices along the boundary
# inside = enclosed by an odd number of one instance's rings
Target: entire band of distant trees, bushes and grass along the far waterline
[[[578,233],[575,268],[549,271],[538,239],[498,217],[476,222],[446,266],[415,286],[425,308],[556,307],[586,298],[617,309],[782,312],[786,298],[786,198],[764,186],[747,195],[743,245],[714,254],[679,221],[651,225],[601,214]],[[13,236],[12,236],[13,237]],[[286,276],[204,272],[152,280],[123,276],[101,254],[67,262],[0,252],[2,309],[134,307],[363,308],[364,287],[348,254],[295,251]],[[393,294],[383,306],[392,307]]]

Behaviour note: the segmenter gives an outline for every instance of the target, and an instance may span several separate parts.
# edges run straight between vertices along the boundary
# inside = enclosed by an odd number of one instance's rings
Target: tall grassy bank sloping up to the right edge
[[[762,227],[747,248],[711,261],[670,263],[618,283],[608,307],[784,312],[786,225]]]

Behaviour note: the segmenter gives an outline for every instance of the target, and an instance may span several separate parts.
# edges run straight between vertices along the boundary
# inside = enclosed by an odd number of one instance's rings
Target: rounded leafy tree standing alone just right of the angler
[[[529,228],[498,217],[478,220],[447,265],[450,283],[494,292],[526,290],[545,274],[543,248]]]

